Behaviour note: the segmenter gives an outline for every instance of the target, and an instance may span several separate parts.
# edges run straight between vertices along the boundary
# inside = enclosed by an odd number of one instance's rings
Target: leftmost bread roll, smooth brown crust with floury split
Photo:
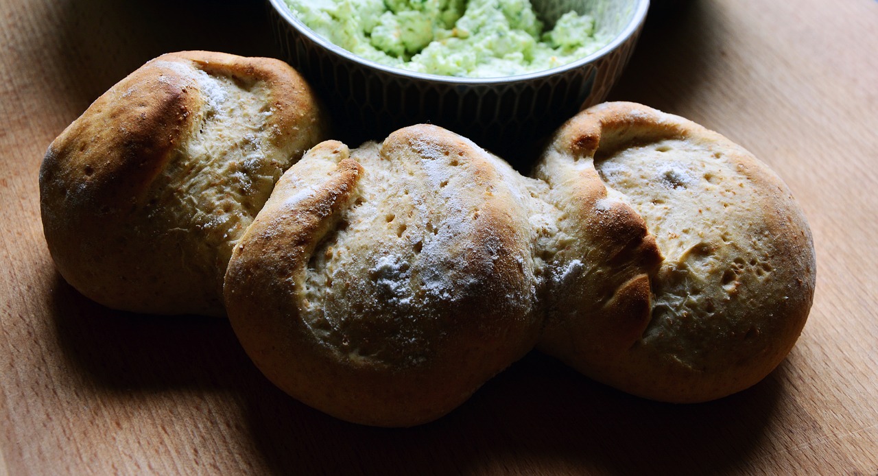
[[[149,61],[48,148],[40,209],[61,276],[116,309],[224,314],[234,243],[326,132],[283,61],[198,51]]]

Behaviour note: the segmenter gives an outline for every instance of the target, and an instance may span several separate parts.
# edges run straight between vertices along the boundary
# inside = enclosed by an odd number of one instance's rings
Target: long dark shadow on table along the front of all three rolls
[[[745,392],[697,405],[643,400],[532,352],[450,415],[414,429],[336,420],[272,386],[228,322],[112,311],[56,275],[52,314],[71,366],[110,391],[232,389],[242,422],[277,473],[454,474],[540,468],[618,474],[722,472],[747,460],[778,397],[784,364]]]

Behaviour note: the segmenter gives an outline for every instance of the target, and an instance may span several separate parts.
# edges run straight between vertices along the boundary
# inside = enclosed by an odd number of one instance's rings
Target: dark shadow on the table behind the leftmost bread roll
[[[60,0],[58,30],[45,54],[76,76],[63,94],[84,111],[113,84],[161,54],[206,49],[245,56],[280,54],[263,1]],[[76,49],[71,46],[76,45]]]

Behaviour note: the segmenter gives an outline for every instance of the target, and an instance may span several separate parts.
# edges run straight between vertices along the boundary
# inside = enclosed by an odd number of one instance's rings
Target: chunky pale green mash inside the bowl
[[[594,18],[550,32],[529,0],[286,0],[314,32],[371,61],[444,76],[514,76],[594,53]]]

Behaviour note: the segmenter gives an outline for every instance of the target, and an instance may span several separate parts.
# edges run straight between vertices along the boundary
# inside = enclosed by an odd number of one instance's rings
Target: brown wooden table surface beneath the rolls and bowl
[[[533,354],[415,429],[322,415],[271,386],[226,321],[111,311],[54,270],[48,143],[143,62],[196,48],[279,55],[255,1],[0,3],[0,474],[878,473],[878,3],[654,11],[612,93],[724,133],[801,201],[817,295],[772,375],[675,406]]]

